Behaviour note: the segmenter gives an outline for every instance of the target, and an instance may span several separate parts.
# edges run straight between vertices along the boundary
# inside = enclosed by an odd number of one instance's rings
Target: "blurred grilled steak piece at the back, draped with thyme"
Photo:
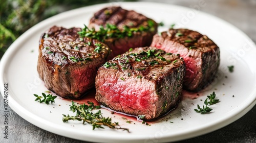
[[[114,57],[131,47],[149,46],[158,27],[154,20],[121,7],[107,7],[96,12],[90,20],[89,28],[100,31],[100,26],[108,31],[103,41],[112,49]],[[116,34],[119,30],[121,34]]]

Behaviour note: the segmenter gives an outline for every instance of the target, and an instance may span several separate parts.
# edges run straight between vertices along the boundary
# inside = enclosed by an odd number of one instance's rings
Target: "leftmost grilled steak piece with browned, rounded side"
[[[94,87],[97,68],[111,52],[98,40],[80,39],[80,30],[53,26],[39,40],[39,76],[49,90],[62,98],[80,98]]]

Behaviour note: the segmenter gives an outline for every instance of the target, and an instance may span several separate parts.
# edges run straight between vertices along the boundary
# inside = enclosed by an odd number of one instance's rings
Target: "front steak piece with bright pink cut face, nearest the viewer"
[[[176,107],[185,63],[155,47],[138,47],[106,62],[96,76],[96,100],[113,110],[152,120]]]

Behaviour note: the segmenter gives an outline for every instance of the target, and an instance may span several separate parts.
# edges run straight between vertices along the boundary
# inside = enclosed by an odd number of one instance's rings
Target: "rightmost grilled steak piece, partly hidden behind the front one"
[[[169,29],[154,35],[151,46],[180,54],[186,63],[184,88],[199,91],[211,83],[220,64],[219,47],[207,36],[188,29]]]

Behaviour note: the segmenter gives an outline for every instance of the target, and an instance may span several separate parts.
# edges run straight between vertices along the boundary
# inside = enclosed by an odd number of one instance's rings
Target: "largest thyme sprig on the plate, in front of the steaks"
[[[100,106],[95,106],[94,103],[88,102],[89,105],[86,104],[78,104],[72,101],[72,105],[70,105],[70,110],[76,112],[76,116],[64,115],[62,121],[68,122],[69,120],[77,120],[82,121],[82,124],[88,123],[93,126],[93,130],[95,128],[104,128],[102,126],[107,126],[111,129],[121,129],[129,132],[127,128],[121,128],[117,122],[112,122],[111,117],[103,117],[101,110],[98,110],[96,113],[92,111],[94,109],[99,109]]]

